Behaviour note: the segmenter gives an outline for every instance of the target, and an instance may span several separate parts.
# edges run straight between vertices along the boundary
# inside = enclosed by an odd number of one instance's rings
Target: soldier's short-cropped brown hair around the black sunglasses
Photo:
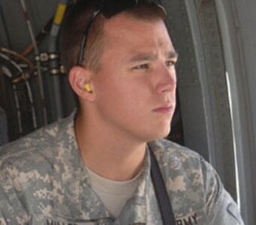
[[[122,1],[122,0],[116,0]],[[83,32],[97,1],[80,0],[70,5],[65,13],[60,34],[60,52],[66,71],[77,64],[78,52],[83,38]],[[137,7],[125,10],[128,17],[135,20],[155,22],[165,19],[165,13],[160,7],[140,1]],[[101,14],[92,23],[86,40],[83,66],[90,70],[100,68],[101,55],[104,52],[104,16]]]

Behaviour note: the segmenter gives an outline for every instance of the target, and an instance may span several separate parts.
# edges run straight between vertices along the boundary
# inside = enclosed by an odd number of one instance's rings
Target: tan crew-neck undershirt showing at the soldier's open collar
[[[129,181],[112,181],[87,168],[92,189],[113,217],[118,217],[128,199],[134,193],[139,181],[139,172]]]

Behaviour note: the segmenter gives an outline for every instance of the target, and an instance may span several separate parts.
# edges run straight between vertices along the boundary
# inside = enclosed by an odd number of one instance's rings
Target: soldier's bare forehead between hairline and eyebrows
[[[104,34],[107,49],[173,50],[173,44],[162,20],[137,20],[120,13],[106,21]]]

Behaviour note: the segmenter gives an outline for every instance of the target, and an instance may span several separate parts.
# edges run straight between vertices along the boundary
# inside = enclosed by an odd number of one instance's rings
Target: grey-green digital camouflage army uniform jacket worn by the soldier
[[[176,225],[243,224],[215,170],[194,151],[150,142]],[[0,149],[0,224],[162,224],[147,151],[140,184],[114,218],[91,188],[74,135],[74,113]]]

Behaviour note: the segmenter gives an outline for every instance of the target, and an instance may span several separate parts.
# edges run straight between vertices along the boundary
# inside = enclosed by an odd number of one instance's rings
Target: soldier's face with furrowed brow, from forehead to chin
[[[164,22],[120,13],[104,32],[101,68],[92,77],[95,116],[118,135],[167,136],[176,106],[176,53]]]

